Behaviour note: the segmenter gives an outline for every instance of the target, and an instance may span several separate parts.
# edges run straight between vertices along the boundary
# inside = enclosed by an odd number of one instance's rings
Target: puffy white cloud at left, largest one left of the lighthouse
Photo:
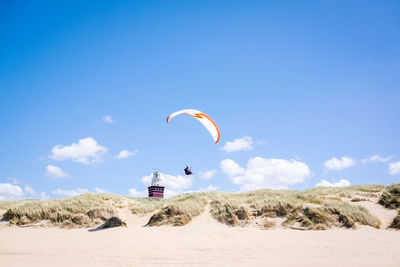
[[[101,155],[107,148],[99,145],[92,137],[79,139],[70,146],[56,145],[51,150],[50,158],[54,160],[72,160],[82,164],[92,164],[101,161]]]

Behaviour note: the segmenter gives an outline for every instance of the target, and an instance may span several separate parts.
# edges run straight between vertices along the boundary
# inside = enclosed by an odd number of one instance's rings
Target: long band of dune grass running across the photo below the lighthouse
[[[257,223],[270,229],[278,222],[284,227],[303,229],[356,228],[357,224],[378,228],[379,219],[352,202],[377,197],[383,189],[381,185],[316,187],[304,191],[265,189],[246,193],[187,193],[170,199],[102,193],[58,200],[1,201],[0,209],[7,209],[3,218],[16,225],[46,220],[61,227],[89,227],[115,216],[117,209],[129,209],[138,215],[154,213],[148,226],[181,226],[204,212],[209,203],[211,215],[229,226]],[[398,185],[387,187],[380,203],[397,207],[398,192]],[[393,227],[399,225],[399,220],[393,222]]]

